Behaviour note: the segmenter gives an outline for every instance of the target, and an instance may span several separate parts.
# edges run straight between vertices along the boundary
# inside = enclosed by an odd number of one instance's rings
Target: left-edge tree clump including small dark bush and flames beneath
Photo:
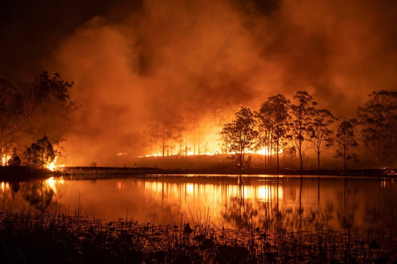
[[[80,107],[68,101],[72,86],[46,71],[31,83],[0,79],[1,166],[54,166],[61,153],[53,145],[66,141],[70,116]]]

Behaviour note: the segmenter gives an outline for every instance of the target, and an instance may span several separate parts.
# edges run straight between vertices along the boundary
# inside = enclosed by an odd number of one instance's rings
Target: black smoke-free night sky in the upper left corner
[[[85,21],[101,15],[119,22],[141,7],[141,1],[10,1],[0,9],[0,78],[32,78],[42,61],[67,35]]]

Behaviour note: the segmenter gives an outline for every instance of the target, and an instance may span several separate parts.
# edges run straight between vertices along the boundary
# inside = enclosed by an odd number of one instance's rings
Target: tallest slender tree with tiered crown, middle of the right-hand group
[[[313,134],[312,120],[316,114],[315,106],[317,103],[306,91],[297,91],[293,99],[296,104],[290,106],[291,122],[289,123],[287,138],[297,149],[301,169],[303,169],[302,156],[306,150],[312,148],[310,137]]]

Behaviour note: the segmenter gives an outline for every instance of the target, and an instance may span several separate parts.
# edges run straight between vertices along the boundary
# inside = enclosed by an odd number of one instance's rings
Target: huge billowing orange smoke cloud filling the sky
[[[142,154],[156,112],[214,100],[254,110],[306,90],[349,116],[370,92],[395,89],[391,4],[147,0],[122,22],[93,17],[47,63],[75,82],[70,95],[82,104],[64,144],[68,165]]]

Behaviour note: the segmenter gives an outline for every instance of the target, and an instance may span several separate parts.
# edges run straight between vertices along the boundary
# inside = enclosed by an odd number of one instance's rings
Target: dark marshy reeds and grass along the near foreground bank
[[[154,217],[153,217],[154,218]],[[180,219],[167,226],[133,218],[115,222],[58,211],[0,212],[0,259],[17,263],[391,263],[392,239],[342,234],[318,226],[312,233],[226,230],[208,213],[192,228]],[[189,225],[190,227],[190,225]]]

